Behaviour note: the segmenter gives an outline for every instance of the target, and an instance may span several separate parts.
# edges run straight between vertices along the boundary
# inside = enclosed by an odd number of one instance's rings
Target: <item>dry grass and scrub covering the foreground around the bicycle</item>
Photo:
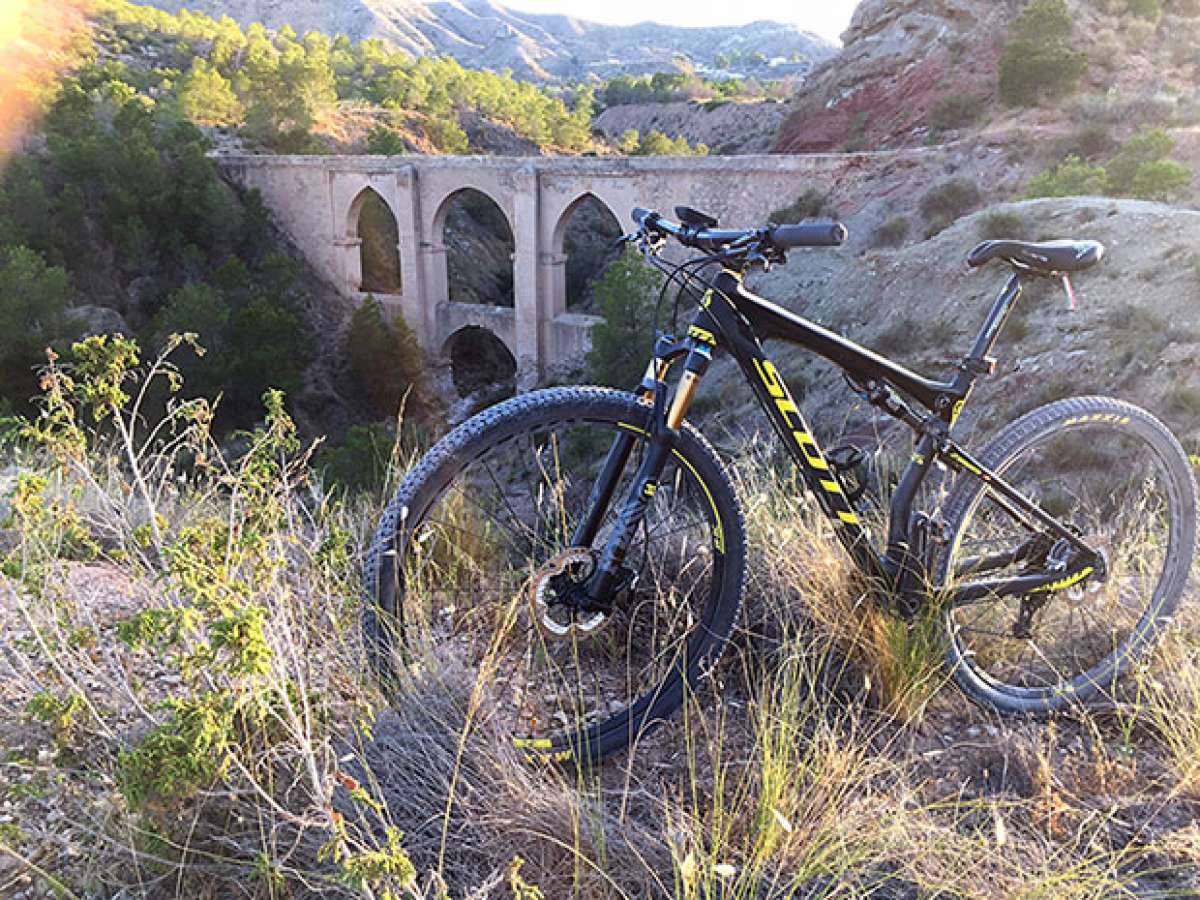
[[[730,653],[635,751],[560,769],[492,731],[468,672],[414,666],[392,703],[378,695],[356,631],[377,510],[324,498],[281,421],[208,474],[168,458],[174,438],[143,457],[148,432],[112,426],[85,454],[62,428],[19,454],[46,481],[23,482],[6,533],[0,895],[1200,890],[1187,620],[1118,715],[994,720],[942,690],[928,630],[870,607],[787,475],[751,458]],[[203,430],[179,442],[218,458]],[[131,641],[146,610],[181,634]],[[208,742],[163,732],[168,698],[212,715]],[[156,733],[179,739],[146,757]]]

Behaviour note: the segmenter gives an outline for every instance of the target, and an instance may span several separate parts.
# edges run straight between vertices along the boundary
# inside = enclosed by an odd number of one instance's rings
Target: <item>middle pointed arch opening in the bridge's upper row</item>
[[[516,245],[509,220],[496,200],[473,187],[455,191],[443,204],[440,223],[450,300],[514,306]]]

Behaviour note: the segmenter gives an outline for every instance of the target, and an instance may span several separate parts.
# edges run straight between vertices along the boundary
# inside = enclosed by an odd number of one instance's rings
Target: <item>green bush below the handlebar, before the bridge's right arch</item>
[[[626,251],[596,281],[595,305],[604,322],[592,329],[590,380],[630,388],[642,377],[654,340],[659,288],[658,274],[634,251]]]

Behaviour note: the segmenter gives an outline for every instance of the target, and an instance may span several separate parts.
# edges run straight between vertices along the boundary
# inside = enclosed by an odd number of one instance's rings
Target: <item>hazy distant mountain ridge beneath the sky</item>
[[[511,68],[521,78],[558,80],[670,71],[684,56],[732,74],[794,71],[800,58],[816,65],[836,54],[823,37],[796,25],[754,22],[737,28],[641,23],[601,25],[560,14],[524,13],[492,0],[136,0],[168,12],[182,8],[229,16],[246,25],[290,25],[354,40],[379,37],[414,55],[454,56],[472,68]],[[751,61],[754,54],[762,54]],[[727,60],[733,56],[734,61]]]

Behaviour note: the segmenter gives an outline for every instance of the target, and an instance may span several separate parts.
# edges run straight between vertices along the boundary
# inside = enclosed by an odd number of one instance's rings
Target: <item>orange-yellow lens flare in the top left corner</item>
[[[0,0],[0,164],[85,47],[86,0]]]

